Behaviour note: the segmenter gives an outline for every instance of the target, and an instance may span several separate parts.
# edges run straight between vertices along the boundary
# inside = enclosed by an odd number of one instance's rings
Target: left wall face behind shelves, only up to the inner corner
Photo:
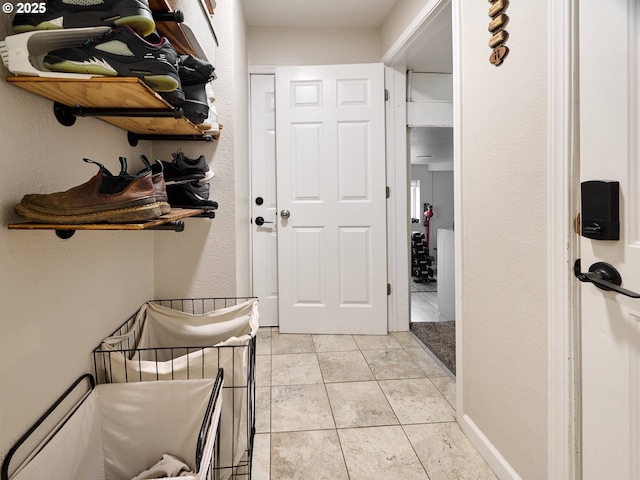
[[[10,16],[0,15],[0,38]],[[97,168],[88,157],[130,171],[151,154],[132,148],[126,133],[95,118],[60,125],[52,102],[4,81],[0,67],[0,459],[77,376],[91,370],[91,352],[140,304],[153,296],[154,235],[172,232],[9,230],[13,207],[28,193],[84,183]],[[23,220],[23,219],[22,219]]]

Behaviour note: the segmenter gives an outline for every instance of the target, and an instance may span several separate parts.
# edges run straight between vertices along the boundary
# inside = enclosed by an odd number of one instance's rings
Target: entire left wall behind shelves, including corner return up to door
[[[98,119],[61,126],[51,101],[0,81],[0,461],[77,376],[92,371],[93,349],[143,302],[249,293],[241,2],[219,2],[214,22],[220,40],[214,88],[224,125],[218,142],[130,147],[124,131]],[[9,30],[10,16],[1,15],[0,38]],[[4,78],[8,72],[0,70]],[[95,175],[83,157],[117,173],[119,156],[137,171],[139,154],[171,160],[178,148],[209,159],[217,218],[186,219],[182,233],[79,231],[68,240],[53,231],[6,228],[20,220],[13,206],[24,194],[66,190]]]

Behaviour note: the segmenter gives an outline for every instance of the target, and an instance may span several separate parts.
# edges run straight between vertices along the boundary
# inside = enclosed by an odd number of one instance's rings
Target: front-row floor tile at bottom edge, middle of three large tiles
[[[429,480],[402,427],[338,430],[350,480]]]

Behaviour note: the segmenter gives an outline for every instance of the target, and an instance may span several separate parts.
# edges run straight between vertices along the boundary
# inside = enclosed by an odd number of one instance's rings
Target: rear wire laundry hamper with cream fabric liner
[[[98,383],[211,378],[225,371],[218,471],[251,478],[255,436],[255,297],[152,300],[93,352]]]

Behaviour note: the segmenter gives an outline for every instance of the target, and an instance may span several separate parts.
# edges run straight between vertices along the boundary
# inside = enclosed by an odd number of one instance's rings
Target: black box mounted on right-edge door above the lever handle
[[[620,239],[620,182],[591,180],[581,184],[581,235],[593,240]]]

